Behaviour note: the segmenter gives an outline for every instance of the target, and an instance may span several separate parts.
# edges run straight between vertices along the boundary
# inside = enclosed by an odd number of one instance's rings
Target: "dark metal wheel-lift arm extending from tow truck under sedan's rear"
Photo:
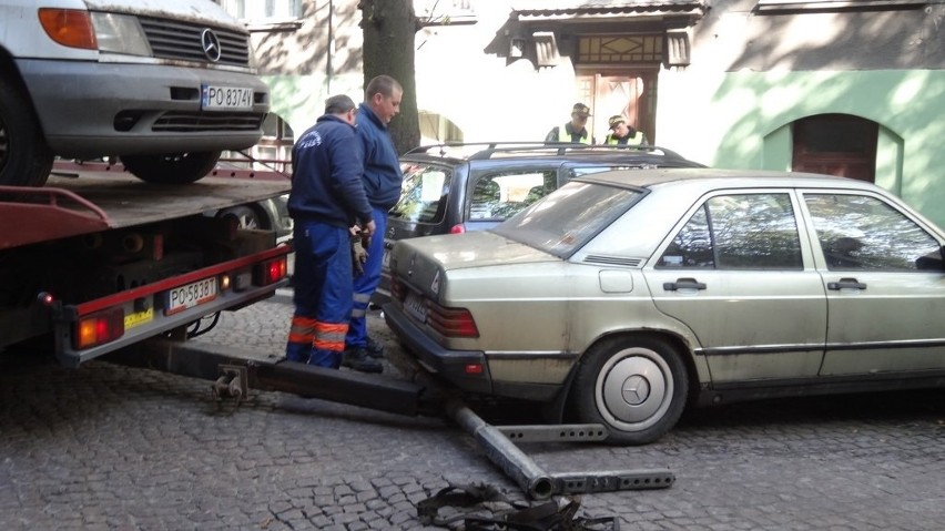
[[[514,442],[592,442],[607,438],[602,425],[491,426],[459,394],[441,386],[419,366],[411,380],[288,361],[282,356],[166,338],[143,341],[105,359],[213,381],[220,400],[244,400],[250,389],[282,391],[404,416],[448,416],[482,448],[486,457],[530,498],[621,490],[665,489],[675,482],[669,469],[550,473]],[[397,360],[404,364],[402,357]],[[413,372],[416,370],[416,372]]]

